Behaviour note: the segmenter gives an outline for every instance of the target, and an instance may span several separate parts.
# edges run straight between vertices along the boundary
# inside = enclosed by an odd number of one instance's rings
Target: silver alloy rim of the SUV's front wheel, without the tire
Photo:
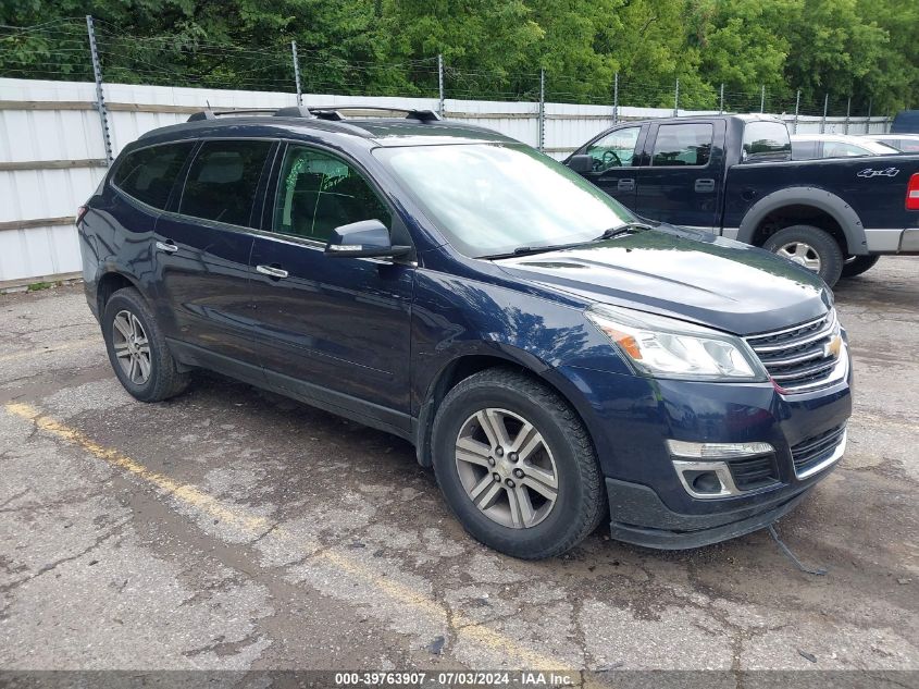
[[[527,529],[556,504],[552,453],[536,427],[518,414],[489,407],[470,416],[457,436],[456,462],[467,495],[497,524]]]

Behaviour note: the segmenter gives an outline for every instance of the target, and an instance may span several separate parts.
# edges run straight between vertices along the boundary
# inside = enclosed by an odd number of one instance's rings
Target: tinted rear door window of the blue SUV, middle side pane
[[[249,225],[271,142],[204,142],[185,180],[178,212]]]

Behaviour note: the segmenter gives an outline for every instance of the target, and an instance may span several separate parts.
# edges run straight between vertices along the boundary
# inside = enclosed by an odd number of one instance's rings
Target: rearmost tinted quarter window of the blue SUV
[[[160,210],[166,207],[170,190],[195,144],[165,144],[128,153],[112,177],[128,196]]]

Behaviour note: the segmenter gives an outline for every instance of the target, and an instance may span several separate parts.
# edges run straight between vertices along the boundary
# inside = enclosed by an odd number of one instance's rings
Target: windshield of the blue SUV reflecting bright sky
[[[374,153],[450,244],[474,258],[589,242],[635,220],[596,186],[527,146],[456,144]]]

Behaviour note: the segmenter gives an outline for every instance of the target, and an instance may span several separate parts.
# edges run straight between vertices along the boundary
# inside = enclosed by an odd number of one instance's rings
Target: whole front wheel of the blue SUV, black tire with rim
[[[461,381],[437,410],[432,446],[448,506],[501,553],[560,555],[603,519],[603,476],[583,422],[522,373],[488,369]]]

